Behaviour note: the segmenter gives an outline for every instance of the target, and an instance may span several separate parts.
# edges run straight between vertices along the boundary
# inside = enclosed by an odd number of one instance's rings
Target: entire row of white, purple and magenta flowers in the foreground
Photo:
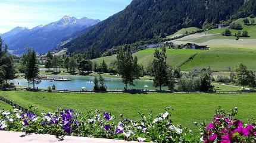
[[[73,110],[57,110],[53,113],[23,113],[14,109],[0,110],[0,130],[26,132],[26,134],[51,134],[62,139],[65,135],[95,138],[122,139],[145,142],[255,142],[256,125],[253,120],[242,123],[235,119],[237,109],[227,114],[218,109],[209,125],[199,126],[201,136],[181,125],[173,125],[170,118],[171,108],[154,117],[141,115],[139,120],[123,119],[115,123],[107,112],[88,112],[80,115]],[[195,123],[197,124],[197,123]]]

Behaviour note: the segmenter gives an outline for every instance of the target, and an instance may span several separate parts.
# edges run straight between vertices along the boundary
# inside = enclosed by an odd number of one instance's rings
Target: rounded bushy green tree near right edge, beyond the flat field
[[[247,67],[245,65],[243,65],[243,63],[239,63],[238,66],[236,66],[235,68],[236,71],[236,82],[239,85],[243,86],[243,90],[245,90],[245,86],[249,84],[249,80],[248,80],[248,70]]]

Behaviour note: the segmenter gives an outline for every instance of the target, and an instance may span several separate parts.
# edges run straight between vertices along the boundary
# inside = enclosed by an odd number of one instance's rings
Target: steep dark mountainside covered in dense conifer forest
[[[221,21],[256,15],[256,0],[133,0],[76,39],[65,43],[69,53],[104,51],[154,37],[166,37],[186,27],[207,27]]]

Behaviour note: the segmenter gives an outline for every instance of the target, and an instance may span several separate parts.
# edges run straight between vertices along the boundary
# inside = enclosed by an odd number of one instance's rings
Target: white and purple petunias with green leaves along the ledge
[[[51,134],[62,139],[65,135],[90,136],[95,138],[122,139],[146,142],[196,142],[197,138],[181,125],[173,125],[171,108],[154,117],[139,113],[141,119],[123,118],[115,123],[115,116],[107,112],[88,112],[86,115],[73,110],[58,109],[38,115],[14,109],[0,110],[0,130],[22,131],[26,134]]]

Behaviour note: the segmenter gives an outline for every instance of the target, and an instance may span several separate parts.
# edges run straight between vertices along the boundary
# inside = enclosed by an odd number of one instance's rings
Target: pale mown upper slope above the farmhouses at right
[[[250,18],[249,18],[250,19]],[[242,31],[248,31],[250,37],[241,37],[241,40],[235,40],[234,36],[222,36],[226,28],[216,28],[207,30],[204,33],[196,33],[181,39],[176,39],[175,44],[186,44],[188,42],[198,43],[199,45],[208,45],[210,47],[239,47],[247,49],[256,49],[256,25],[246,26],[243,24],[243,19],[236,20],[235,23],[240,23],[243,26]],[[256,20],[256,18],[254,18]],[[233,30],[232,34],[238,33],[239,30]]]

